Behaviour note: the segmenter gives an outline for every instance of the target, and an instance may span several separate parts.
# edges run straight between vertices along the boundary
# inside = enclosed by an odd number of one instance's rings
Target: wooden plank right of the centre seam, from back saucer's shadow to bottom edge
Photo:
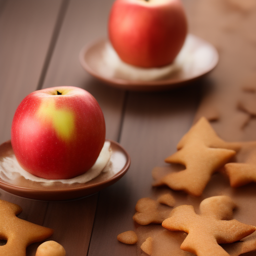
[[[128,93],[120,143],[130,154],[131,166],[120,181],[99,192],[89,256],[136,255],[136,246],[122,244],[116,236],[134,229],[136,201],[154,194],[151,170],[176,150],[199,96],[199,82],[168,92]]]

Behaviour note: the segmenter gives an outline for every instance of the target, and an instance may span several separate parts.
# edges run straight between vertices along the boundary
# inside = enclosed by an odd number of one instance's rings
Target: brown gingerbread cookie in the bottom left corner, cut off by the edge
[[[25,256],[26,247],[46,239],[53,230],[16,217],[22,208],[14,203],[0,200],[0,238],[7,243],[0,246],[0,255]]]

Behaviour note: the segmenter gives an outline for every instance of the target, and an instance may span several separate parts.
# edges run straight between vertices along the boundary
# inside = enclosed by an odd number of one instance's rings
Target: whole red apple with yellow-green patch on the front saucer
[[[67,179],[84,173],[96,161],[104,141],[100,106],[77,87],[28,94],[12,120],[11,145],[18,163],[42,178]]]

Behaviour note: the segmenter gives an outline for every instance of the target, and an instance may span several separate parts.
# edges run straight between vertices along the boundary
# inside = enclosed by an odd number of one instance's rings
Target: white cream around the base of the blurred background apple
[[[205,70],[214,58],[215,52],[204,42],[198,46],[198,38],[187,34],[185,42],[172,63],[153,68],[142,68],[123,62],[111,44],[106,42],[100,51],[100,62],[97,63],[97,72],[105,78],[119,78],[130,81],[154,81],[170,78],[177,72],[193,77]],[[95,63],[94,63],[95,65]]]

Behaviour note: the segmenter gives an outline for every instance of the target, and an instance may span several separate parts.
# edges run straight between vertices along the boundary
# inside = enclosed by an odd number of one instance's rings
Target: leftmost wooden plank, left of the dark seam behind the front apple
[[[0,1],[0,143],[10,139],[17,105],[37,87],[60,5],[61,0]],[[0,199],[20,205],[23,212],[19,217],[43,224],[47,202],[3,190]]]

